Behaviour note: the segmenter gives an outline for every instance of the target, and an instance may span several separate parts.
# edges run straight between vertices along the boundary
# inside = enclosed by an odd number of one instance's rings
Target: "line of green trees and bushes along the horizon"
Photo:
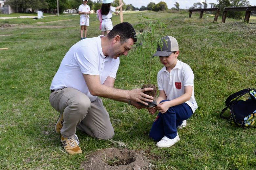
[[[189,9],[202,9],[202,8],[220,8],[221,13],[225,7],[245,7],[250,6],[248,0],[217,0],[218,4],[208,3],[205,0],[204,2],[194,3]],[[67,9],[78,9],[79,5],[82,4],[82,0],[58,0],[59,3],[59,13],[62,13]],[[101,8],[102,0],[92,1],[88,0],[87,5],[95,11]],[[22,9],[23,12],[26,9],[32,9],[31,12],[34,12],[35,9],[43,10],[45,13],[56,13],[57,11],[57,0],[7,0],[5,5],[10,5],[14,8]],[[178,2],[173,4],[173,10],[180,10],[180,5]],[[114,0],[112,6],[119,6],[119,0]],[[152,11],[163,11],[167,10],[167,4],[163,1],[159,3],[150,2],[147,6],[141,6],[140,8],[135,8],[132,4],[125,4],[123,10],[152,10]],[[244,15],[244,12],[241,11],[230,11],[227,13],[227,17],[240,19]]]

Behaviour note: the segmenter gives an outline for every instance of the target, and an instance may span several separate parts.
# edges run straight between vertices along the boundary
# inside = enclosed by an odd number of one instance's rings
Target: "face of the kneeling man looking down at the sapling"
[[[116,42],[113,45],[112,50],[109,52],[109,56],[111,58],[117,59],[120,55],[127,55],[128,51],[132,49],[133,46],[133,39],[129,38],[126,40],[123,44],[120,43],[120,41]]]

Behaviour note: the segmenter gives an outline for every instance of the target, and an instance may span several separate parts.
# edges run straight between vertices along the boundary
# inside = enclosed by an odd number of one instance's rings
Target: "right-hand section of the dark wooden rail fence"
[[[244,22],[246,21],[247,24],[249,23],[249,19],[250,19],[250,15],[251,15],[251,11],[256,11],[256,7],[233,7],[233,8],[224,8],[223,10],[223,14],[222,14],[222,23],[225,23],[226,21],[226,14],[227,11],[246,11],[245,12],[245,19]]]

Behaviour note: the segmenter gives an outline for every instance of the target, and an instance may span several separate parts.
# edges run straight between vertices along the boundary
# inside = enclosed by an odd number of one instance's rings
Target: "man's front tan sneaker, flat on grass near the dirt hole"
[[[76,135],[73,138],[65,138],[60,134],[60,138],[67,153],[71,155],[82,153],[81,148],[78,146],[79,141]]]

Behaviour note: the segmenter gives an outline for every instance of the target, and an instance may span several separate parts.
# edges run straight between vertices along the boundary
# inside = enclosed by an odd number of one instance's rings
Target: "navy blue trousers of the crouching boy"
[[[160,103],[165,101],[169,100],[163,100]],[[163,114],[159,112],[151,127],[149,137],[156,142],[160,141],[164,135],[169,139],[174,139],[177,136],[177,127],[192,114],[191,107],[186,103],[170,107]]]

